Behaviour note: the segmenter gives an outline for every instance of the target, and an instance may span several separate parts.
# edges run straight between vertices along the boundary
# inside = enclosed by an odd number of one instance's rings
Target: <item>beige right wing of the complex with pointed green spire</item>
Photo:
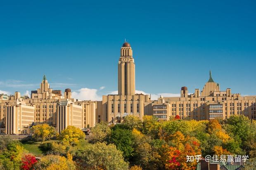
[[[231,89],[220,91],[218,83],[210,76],[203,90],[195,89],[188,94],[187,87],[181,87],[180,97],[163,97],[152,102],[153,115],[165,121],[179,115],[181,119],[196,120],[225,119],[230,115],[245,115],[256,119],[256,96],[232,94]]]

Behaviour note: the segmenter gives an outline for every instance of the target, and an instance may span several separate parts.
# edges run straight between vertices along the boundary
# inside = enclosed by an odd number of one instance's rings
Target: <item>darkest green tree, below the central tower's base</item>
[[[114,143],[116,148],[123,152],[125,160],[133,156],[133,136],[130,130],[117,128],[111,131],[109,143]]]

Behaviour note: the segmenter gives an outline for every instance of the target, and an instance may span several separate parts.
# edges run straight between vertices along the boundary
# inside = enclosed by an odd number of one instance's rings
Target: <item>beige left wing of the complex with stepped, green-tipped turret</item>
[[[11,96],[1,95],[0,131],[7,134],[29,133],[33,122],[50,124],[59,132],[69,125],[80,129],[93,127],[97,108],[95,103],[73,99],[70,89],[66,89],[62,96],[61,90],[52,90],[46,76],[43,76],[40,88],[31,91],[31,98],[21,97],[19,92]]]

